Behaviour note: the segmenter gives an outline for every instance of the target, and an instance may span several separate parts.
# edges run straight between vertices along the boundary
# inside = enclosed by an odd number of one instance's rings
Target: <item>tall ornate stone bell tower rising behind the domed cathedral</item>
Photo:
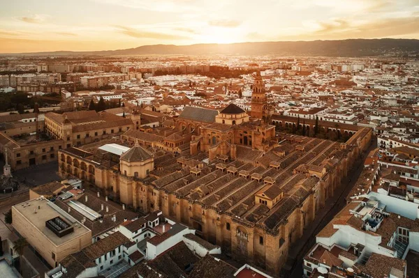
[[[260,118],[263,121],[267,121],[269,117],[269,108],[265,94],[265,82],[263,82],[260,72],[256,74],[255,82],[253,84],[250,116],[252,118]]]

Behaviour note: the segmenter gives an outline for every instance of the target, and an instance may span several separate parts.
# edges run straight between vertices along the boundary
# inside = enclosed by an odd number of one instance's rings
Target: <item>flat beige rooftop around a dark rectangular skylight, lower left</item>
[[[13,206],[13,208],[23,215],[23,217],[27,219],[27,222],[35,226],[38,231],[43,233],[43,235],[57,246],[68,242],[68,240],[78,238],[85,233],[91,233],[89,229],[83,226],[75,218],[71,217],[71,215],[68,215],[64,210],[61,210],[61,208],[58,208],[54,203],[46,199],[33,199]],[[64,219],[68,224],[73,226],[74,231],[59,238],[58,235],[45,226],[47,220],[55,217]]]

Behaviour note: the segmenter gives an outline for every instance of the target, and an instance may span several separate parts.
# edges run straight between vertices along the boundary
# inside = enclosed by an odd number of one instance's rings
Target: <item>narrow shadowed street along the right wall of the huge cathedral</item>
[[[337,213],[339,213],[339,210],[346,206],[346,196],[348,196],[358,180],[360,173],[364,168],[363,162],[366,156],[371,150],[374,150],[374,148],[376,148],[376,140],[373,138],[371,146],[363,153],[362,158],[355,162],[355,168],[348,172],[348,176],[337,188],[335,195],[328,199],[325,206],[316,213],[316,219],[314,219],[314,222],[311,224],[311,229],[304,230],[302,238],[294,243],[288,254],[288,261],[286,262],[286,265],[284,265],[284,270],[291,273],[288,277],[302,277],[302,261],[305,254],[307,254],[309,249],[316,243],[316,234],[320,232],[330,220],[337,215]]]

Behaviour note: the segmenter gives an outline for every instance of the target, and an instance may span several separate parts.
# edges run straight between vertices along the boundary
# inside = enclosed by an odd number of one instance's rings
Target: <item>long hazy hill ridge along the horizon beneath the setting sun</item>
[[[119,55],[284,55],[284,56],[381,56],[385,54],[419,54],[419,40],[413,39],[350,39],[297,42],[263,42],[198,45],[144,45],[136,48],[94,52],[37,52],[10,55],[47,56],[119,56]],[[7,55],[7,54],[2,54]]]

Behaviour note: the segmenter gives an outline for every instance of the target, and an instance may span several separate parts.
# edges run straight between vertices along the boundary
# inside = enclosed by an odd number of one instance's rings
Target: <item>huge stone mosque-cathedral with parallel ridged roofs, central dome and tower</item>
[[[260,76],[253,92],[252,118],[233,104],[221,111],[186,107],[174,130],[189,152],[161,147],[168,143],[164,137],[159,143],[148,135],[134,139],[135,131],[122,135],[122,151],[100,142],[60,150],[59,173],[82,178],[144,213],[161,210],[235,260],[278,275],[288,249],[333,196],[372,132],[359,130],[346,144],[276,136],[267,124],[271,114]]]

